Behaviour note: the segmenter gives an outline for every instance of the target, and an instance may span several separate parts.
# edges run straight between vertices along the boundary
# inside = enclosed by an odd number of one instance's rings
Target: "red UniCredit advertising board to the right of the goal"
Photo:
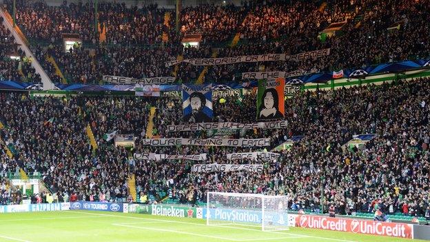
[[[296,217],[296,227],[413,239],[413,225],[406,223],[299,215]]]

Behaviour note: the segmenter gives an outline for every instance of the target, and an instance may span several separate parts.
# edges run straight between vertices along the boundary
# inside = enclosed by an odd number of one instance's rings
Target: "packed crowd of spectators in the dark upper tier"
[[[99,3],[106,44],[94,37],[94,6],[88,3],[64,2],[60,7],[41,1],[17,4],[19,26],[28,39],[53,45],[51,52],[70,83],[99,83],[103,74],[140,78],[176,73],[178,82],[195,81],[203,68],[185,63],[166,68],[165,61],[181,55],[184,59],[209,58],[214,52],[217,57],[234,57],[331,48],[320,59],[214,65],[202,75],[206,81],[237,80],[242,72],[327,72],[430,56],[429,30],[421,28],[427,21],[424,13],[430,10],[427,1],[336,0],[322,6],[270,0],[243,2],[242,6],[194,6],[181,11],[180,34],[174,31],[173,14],[165,18],[169,12],[157,6],[126,8],[120,3]],[[345,21],[342,34],[318,39],[324,28],[338,21]],[[69,32],[81,35],[83,50],[64,53],[61,34]],[[182,37],[195,32],[203,34],[201,47],[184,50]],[[236,34],[238,46],[223,44]],[[55,74],[51,76],[58,80]]]

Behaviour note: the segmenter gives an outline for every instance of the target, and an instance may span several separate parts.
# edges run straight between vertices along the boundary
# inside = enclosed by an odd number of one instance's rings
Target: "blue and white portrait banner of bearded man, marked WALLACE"
[[[208,123],[214,117],[212,108],[212,84],[182,85],[183,121]]]

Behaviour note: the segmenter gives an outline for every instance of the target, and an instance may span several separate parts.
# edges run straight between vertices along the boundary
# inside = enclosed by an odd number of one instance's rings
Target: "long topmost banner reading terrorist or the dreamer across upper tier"
[[[240,57],[223,57],[223,58],[205,58],[205,59],[185,59],[182,61],[167,61],[166,67],[176,65],[181,62],[192,65],[228,65],[243,62],[260,62],[260,61],[304,61],[306,59],[317,59],[330,54],[330,49],[314,50],[299,54],[256,54]]]

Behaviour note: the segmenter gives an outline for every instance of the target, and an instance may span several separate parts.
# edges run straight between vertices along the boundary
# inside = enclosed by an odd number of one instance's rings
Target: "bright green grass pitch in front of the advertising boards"
[[[303,228],[291,228],[285,232],[262,232],[258,228],[207,226],[202,219],[178,219],[114,212],[62,211],[0,214],[0,241],[416,242],[418,240]]]

